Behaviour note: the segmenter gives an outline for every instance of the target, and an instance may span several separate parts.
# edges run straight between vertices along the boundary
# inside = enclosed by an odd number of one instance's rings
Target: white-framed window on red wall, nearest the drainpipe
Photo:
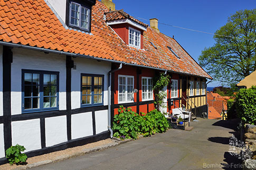
[[[118,103],[134,102],[134,76],[118,75]]]

